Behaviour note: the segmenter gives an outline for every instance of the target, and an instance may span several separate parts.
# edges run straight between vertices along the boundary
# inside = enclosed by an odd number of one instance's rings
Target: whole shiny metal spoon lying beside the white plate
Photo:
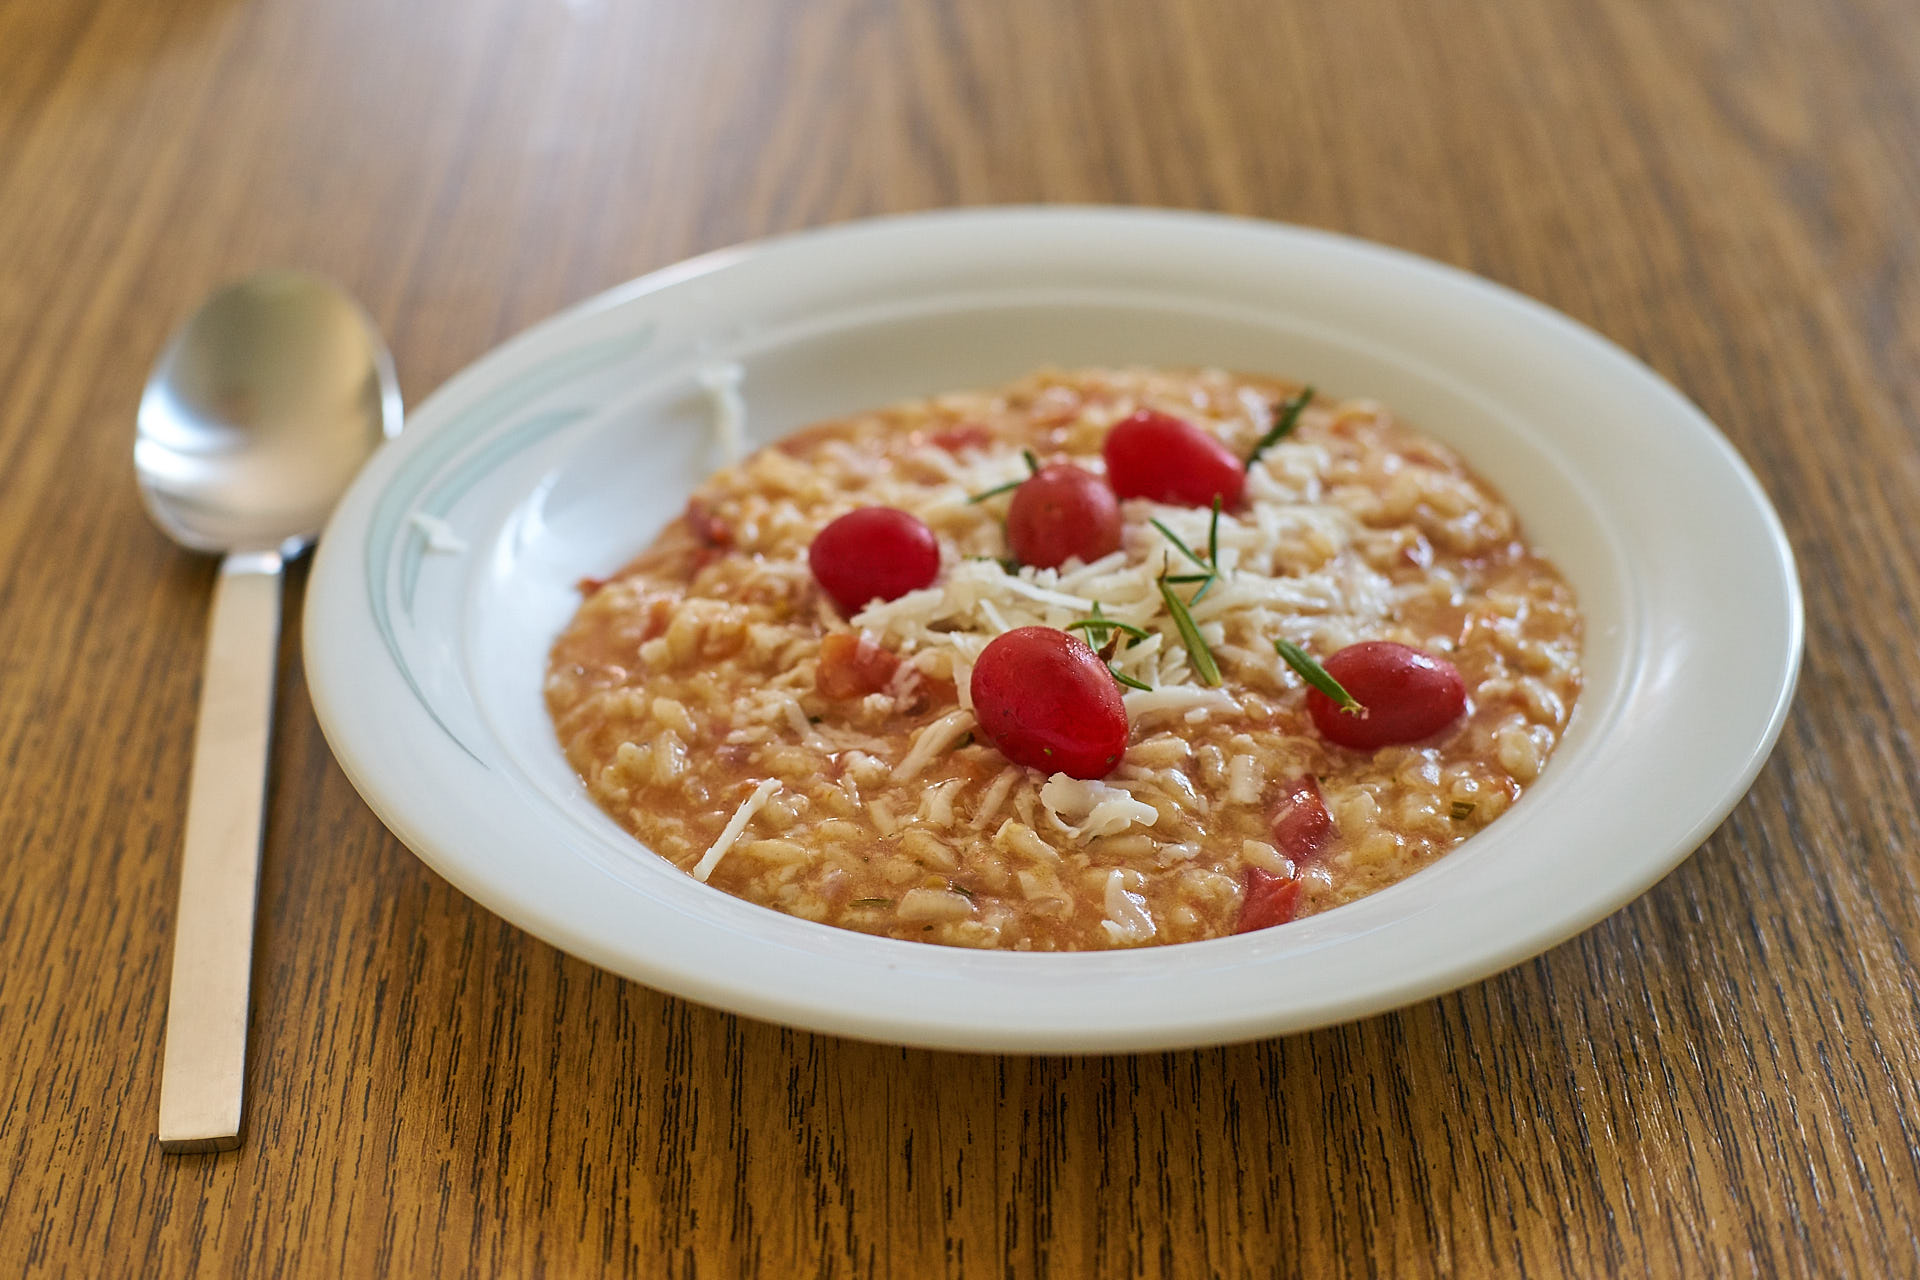
[[[213,294],[140,395],[132,462],[175,541],[219,553],[186,794],[159,1146],[240,1146],[253,904],[280,570],[399,432],[394,361],[324,280],[269,271]]]

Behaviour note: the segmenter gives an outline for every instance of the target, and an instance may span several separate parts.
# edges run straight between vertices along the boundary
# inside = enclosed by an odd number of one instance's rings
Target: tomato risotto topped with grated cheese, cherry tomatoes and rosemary
[[[1091,950],[1283,925],[1496,821],[1572,591],[1450,449],[1221,370],[812,426],[582,583],[547,706],[655,854],[845,929]]]

